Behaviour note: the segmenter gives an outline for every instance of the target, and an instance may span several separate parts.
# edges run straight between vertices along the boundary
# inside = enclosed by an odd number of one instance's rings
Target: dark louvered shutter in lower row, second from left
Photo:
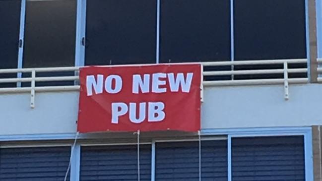
[[[140,145],[140,180],[151,180],[151,145]],[[136,145],[81,147],[80,181],[137,181]]]

